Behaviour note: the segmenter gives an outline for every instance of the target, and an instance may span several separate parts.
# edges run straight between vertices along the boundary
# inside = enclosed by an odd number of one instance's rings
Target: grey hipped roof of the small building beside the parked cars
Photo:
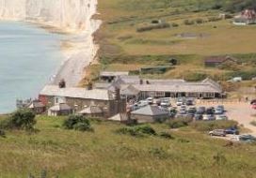
[[[157,116],[157,115],[168,115],[168,111],[163,111],[159,109],[158,106],[148,105],[139,110],[132,111],[132,114]]]

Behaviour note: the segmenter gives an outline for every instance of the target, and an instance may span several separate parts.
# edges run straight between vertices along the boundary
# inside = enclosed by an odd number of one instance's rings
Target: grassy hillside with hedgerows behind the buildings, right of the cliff
[[[253,7],[251,2],[99,0],[98,16],[104,21],[96,33],[101,46],[101,66],[92,67],[92,76],[97,76],[100,69],[132,70],[167,65],[167,59],[174,57],[179,60],[179,67],[165,75],[152,77],[186,78],[203,73],[216,80],[226,79],[231,71],[205,68],[202,59],[209,55],[229,54],[239,55],[244,60],[244,55],[255,52],[255,25],[235,26],[232,19],[218,20],[220,13],[233,16],[245,7]],[[170,27],[137,32],[158,20]],[[186,22],[194,24],[186,25]],[[255,58],[253,60],[255,64]],[[250,64],[239,68],[247,71],[253,67]]]

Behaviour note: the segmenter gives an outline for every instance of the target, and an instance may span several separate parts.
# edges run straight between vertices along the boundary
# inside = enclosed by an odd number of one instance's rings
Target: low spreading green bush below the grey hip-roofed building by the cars
[[[143,137],[145,135],[156,135],[155,130],[151,126],[131,126],[123,127],[116,131],[119,134],[130,135],[135,137]]]

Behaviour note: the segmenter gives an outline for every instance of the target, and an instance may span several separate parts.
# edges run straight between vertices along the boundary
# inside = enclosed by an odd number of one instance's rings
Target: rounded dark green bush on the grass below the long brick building
[[[92,131],[90,122],[82,115],[71,115],[63,123],[64,128],[79,131]]]

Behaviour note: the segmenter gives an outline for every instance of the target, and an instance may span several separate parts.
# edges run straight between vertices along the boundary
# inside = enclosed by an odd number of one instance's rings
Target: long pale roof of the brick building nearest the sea
[[[113,92],[105,89],[92,89],[70,87],[59,88],[57,85],[46,85],[40,91],[40,96],[63,96],[95,100],[114,100]]]

